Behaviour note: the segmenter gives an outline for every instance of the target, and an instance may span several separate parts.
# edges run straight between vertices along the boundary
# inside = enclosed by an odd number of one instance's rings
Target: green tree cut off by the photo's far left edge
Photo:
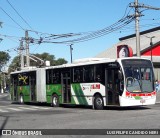
[[[7,52],[0,51],[0,70],[9,61],[10,55]]]

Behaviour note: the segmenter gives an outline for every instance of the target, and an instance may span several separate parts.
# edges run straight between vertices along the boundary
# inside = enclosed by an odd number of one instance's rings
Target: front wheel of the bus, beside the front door
[[[93,104],[96,110],[102,110],[104,108],[103,98],[100,95],[95,95]]]

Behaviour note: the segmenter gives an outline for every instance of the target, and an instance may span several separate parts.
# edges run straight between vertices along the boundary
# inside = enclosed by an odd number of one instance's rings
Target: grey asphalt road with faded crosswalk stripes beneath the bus
[[[107,107],[105,110],[97,111],[82,106],[52,108],[49,105],[11,104],[8,95],[1,94],[0,126],[1,129],[160,129],[160,103],[143,107]],[[56,135],[45,137],[159,138],[160,135]]]

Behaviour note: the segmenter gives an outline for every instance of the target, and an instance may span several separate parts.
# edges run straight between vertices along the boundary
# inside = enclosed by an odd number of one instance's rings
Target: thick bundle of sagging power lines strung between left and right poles
[[[76,33],[76,34],[75,33],[61,34],[61,35],[53,35],[53,34],[51,34],[50,36],[41,38],[41,43],[56,43],[56,44],[61,44],[61,43],[62,44],[63,43],[79,43],[79,42],[92,40],[92,39],[95,39],[95,38],[98,38],[98,37],[102,37],[102,36],[104,36],[104,35],[106,35],[108,33],[116,31],[116,30],[128,25],[130,22],[132,22],[134,20],[134,17],[128,16],[130,11],[133,9],[133,8],[130,8],[129,11],[128,11],[129,5],[130,4],[127,5],[127,7],[125,9],[125,13],[122,16],[122,18],[118,22],[112,24],[109,27],[106,27],[104,29],[97,30],[97,31],[89,31],[89,32],[83,32],[83,33]],[[72,40],[68,40],[68,41],[59,41],[59,42],[53,41],[55,39],[68,38],[68,37],[73,37],[73,36],[77,36],[77,35],[81,35],[82,37],[76,38],[76,39],[72,39]],[[33,41],[37,42],[38,40],[37,39],[33,39]]]

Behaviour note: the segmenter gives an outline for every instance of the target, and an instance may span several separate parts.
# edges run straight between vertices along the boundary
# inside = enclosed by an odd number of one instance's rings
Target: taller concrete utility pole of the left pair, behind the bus
[[[25,40],[26,40],[26,66],[30,66],[30,59],[29,59],[29,37],[28,37],[28,30],[25,31]]]

